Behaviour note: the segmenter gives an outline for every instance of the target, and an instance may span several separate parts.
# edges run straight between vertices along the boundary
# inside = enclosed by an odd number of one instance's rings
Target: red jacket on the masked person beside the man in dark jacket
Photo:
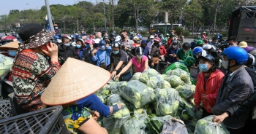
[[[206,81],[206,90],[203,89],[205,82],[204,72],[201,72],[197,76],[197,85],[195,87],[194,102],[196,106],[199,106],[201,101],[203,102],[203,108],[212,113],[211,109],[215,106],[219,87],[222,84],[222,78],[224,74],[219,69],[212,72]],[[203,94],[206,95],[207,101],[203,98]]]

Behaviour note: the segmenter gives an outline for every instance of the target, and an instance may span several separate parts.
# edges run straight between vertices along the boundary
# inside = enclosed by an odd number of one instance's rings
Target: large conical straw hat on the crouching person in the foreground
[[[42,93],[42,103],[64,105],[93,94],[110,80],[110,72],[81,60],[67,58]]]

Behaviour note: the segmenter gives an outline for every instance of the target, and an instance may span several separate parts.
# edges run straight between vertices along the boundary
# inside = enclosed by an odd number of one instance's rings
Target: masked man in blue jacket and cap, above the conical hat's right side
[[[112,49],[110,46],[106,46],[106,42],[99,41],[99,50],[94,50],[91,52],[91,59],[97,62],[97,66],[110,71],[110,53]]]

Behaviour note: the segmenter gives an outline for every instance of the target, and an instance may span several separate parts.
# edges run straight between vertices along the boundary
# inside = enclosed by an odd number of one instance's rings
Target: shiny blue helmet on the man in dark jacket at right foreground
[[[248,60],[246,50],[241,47],[228,47],[220,55],[225,55],[228,60],[236,60],[238,65],[243,65]]]

